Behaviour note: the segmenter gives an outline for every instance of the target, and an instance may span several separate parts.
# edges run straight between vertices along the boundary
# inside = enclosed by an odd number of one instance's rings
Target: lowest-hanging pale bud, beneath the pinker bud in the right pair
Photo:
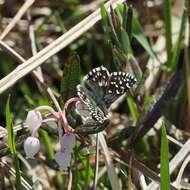
[[[58,151],[56,153],[55,160],[61,171],[67,170],[71,163],[71,153]]]

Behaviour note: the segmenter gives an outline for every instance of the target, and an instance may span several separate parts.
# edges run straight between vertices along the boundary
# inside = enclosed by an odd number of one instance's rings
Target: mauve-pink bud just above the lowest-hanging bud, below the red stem
[[[73,148],[75,147],[76,139],[75,135],[70,134],[64,134],[61,137],[61,151],[62,152],[73,152]]]

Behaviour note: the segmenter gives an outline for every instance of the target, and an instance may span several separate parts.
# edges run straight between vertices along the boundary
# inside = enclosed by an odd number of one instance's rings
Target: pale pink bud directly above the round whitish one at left
[[[31,110],[28,112],[26,117],[26,125],[28,129],[32,132],[36,126],[40,126],[42,124],[42,116],[39,111]]]

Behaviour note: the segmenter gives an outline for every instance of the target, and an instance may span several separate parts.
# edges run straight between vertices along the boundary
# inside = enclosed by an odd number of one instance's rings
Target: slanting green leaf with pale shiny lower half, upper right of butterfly
[[[141,44],[141,46],[147,51],[147,53],[154,59],[157,59],[159,62],[156,53],[153,51],[150,46],[143,29],[135,16],[132,19],[132,36]]]

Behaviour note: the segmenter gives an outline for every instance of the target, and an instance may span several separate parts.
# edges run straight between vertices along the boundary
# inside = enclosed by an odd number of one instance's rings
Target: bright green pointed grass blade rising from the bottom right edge
[[[160,166],[160,190],[169,190],[170,173],[169,173],[169,148],[168,139],[166,136],[166,128],[162,124],[162,139],[161,139],[161,166]]]

